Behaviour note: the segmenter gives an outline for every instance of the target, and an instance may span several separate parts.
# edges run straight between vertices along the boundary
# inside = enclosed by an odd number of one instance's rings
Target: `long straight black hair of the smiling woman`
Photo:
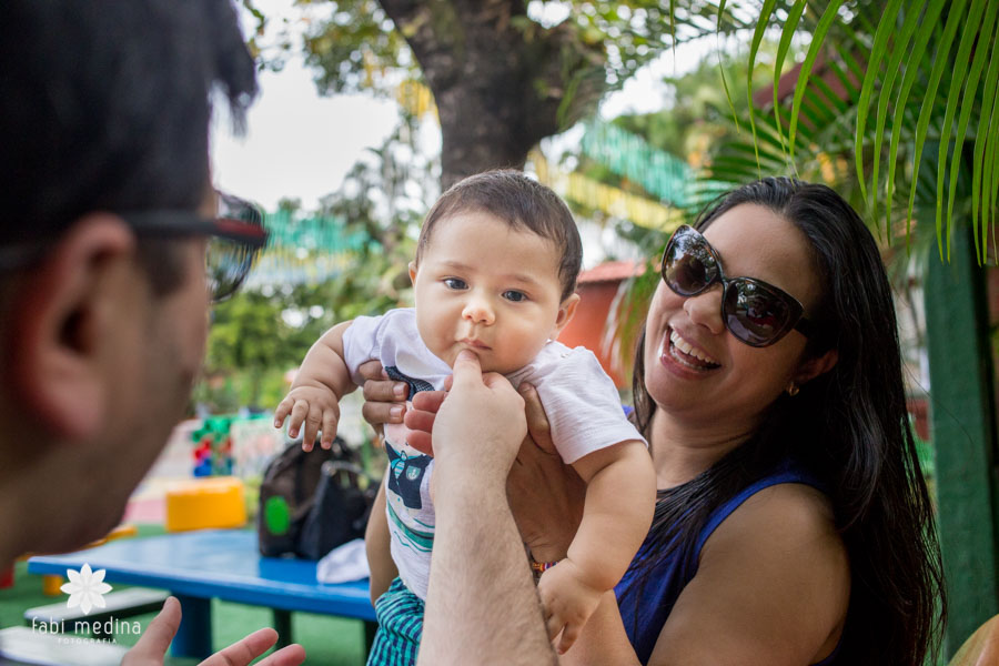
[[[824,334],[806,354],[836,349],[829,372],[786,394],[760,430],[693,481],[659,493],[643,572],[676,544],[693,543],[710,513],[790,455],[818,477],[833,503],[850,562],[849,612],[837,663],[921,665],[936,655],[946,618],[934,513],[906,412],[891,290],[877,245],[850,205],[825,185],[768,178],[717,200],[706,229],[753,203],[790,221],[807,238],[825,292],[809,312]],[[656,404],[645,387],[645,335],[633,389],[648,436]],[[640,597],[640,587],[639,594]]]

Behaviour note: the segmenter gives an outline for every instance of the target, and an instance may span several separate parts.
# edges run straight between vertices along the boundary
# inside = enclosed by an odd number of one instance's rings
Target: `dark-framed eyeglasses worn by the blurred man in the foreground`
[[[222,192],[216,192],[215,198],[216,213],[213,219],[182,210],[118,214],[140,238],[208,238],[205,276],[212,302],[219,303],[231,296],[246,279],[260,251],[266,245],[268,231],[263,212],[254,204]],[[0,248],[0,270],[29,265],[44,251],[42,243]]]

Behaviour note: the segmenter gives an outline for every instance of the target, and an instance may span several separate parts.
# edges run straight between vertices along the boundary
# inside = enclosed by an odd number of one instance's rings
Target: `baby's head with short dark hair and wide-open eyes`
[[[421,339],[448,364],[470,350],[485,371],[523,367],[572,319],[581,254],[549,189],[514,171],[463,180],[427,214],[410,266]]]

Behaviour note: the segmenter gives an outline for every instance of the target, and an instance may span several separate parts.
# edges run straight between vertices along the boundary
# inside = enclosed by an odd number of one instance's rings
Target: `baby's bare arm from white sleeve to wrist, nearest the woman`
[[[643,442],[633,440],[585,455],[573,467],[586,482],[586,503],[568,559],[587,585],[607,591],[624,576],[652,524],[652,457]]]

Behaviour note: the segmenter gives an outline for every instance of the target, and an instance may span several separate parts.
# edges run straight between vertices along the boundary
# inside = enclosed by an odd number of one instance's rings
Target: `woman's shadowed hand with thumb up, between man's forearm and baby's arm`
[[[535,562],[565,557],[583,519],[586,485],[562,462],[537,391],[519,387],[527,414],[527,437],[521,445],[506,484],[506,495],[521,538]]]

